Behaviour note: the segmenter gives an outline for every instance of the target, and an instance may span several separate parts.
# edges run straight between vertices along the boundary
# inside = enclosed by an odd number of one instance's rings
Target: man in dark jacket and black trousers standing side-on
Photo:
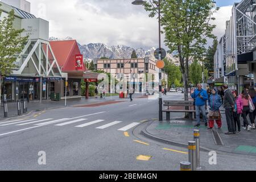
[[[228,132],[226,135],[236,134],[236,127],[234,123],[233,111],[234,111],[234,96],[232,92],[229,90],[228,84],[222,85],[222,89],[224,90],[224,108],[226,115],[226,123],[228,125]]]

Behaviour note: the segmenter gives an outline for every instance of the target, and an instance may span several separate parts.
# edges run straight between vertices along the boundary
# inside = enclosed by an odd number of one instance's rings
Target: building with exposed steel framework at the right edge
[[[214,78],[228,83],[239,93],[253,86],[253,77],[256,77],[255,7],[255,0],[234,3],[231,18],[226,21],[225,35],[214,56]]]

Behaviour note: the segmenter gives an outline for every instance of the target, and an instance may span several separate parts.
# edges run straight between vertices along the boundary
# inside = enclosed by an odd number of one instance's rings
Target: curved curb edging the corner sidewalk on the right
[[[151,123],[154,122],[154,121],[151,121]],[[148,125],[150,125],[151,123],[148,123]],[[143,123],[142,123],[143,124]],[[146,126],[146,128],[148,127],[148,125]],[[168,139],[165,139],[165,138],[161,138],[161,137],[156,137],[155,135],[152,135],[151,133],[148,133],[147,129],[143,129],[141,131],[141,134],[144,136],[144,137],[147,137],[147,138],[150,138],[150,139],[154,139],[158,142],[163,142],[163,143],[166,143],[166,144],[172,144],[174,146],[177,146],[177,147],[184,147],[184,148],[187,148],[188,147],[188,144],[186,143],[181,143],[181,142],[175,142],[173,140],[168,140]],[[204,152],[210,152],[212,150],[210,150],[209,148],[205,148],[205,147],[201,147],[200,146],[200,149],[201,151],[204,151]]]

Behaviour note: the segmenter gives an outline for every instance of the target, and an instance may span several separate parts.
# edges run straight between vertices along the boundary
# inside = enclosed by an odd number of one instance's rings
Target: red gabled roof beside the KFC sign
[[[76,40],[61,40],[49,42],[56,60],[63,72],[85,72],[86,68],[79,71],[76,70],[76,55],[81,52],[77,46]]]

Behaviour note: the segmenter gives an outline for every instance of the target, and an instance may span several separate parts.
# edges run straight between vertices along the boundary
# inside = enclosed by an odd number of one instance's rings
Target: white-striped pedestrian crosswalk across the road
[[[2,126],[27,126],[27,125],[34,125],[34,126],[44,126],[44,125],[54,125],[54,126],[72,126],[76,128],[84,128],[93,125],[101,125],[101,126],[94,126],[95,129],[108,129],[110,127],[115,127],[118,131],[127,131],[132,129],[133,127],[139,125],[138,122],[133,123],[125,123],[123,121],[106,121],[105,119],[97,119],[90,121],[90,119],[85,118],[86,115],[82,117],[75,117],[75,118],[61,118],[61,119],[53,119],[53,118],[46,118],[46,119],[16,119],[14,121],[7,121],[1,122],[0,127]],[[89,116],[89,115],[87,115]],[[78,119],[80,118],[80,119]],[[119,126],[119,127],[118,127]],[[119,128],[119,129],[118,129]]]

